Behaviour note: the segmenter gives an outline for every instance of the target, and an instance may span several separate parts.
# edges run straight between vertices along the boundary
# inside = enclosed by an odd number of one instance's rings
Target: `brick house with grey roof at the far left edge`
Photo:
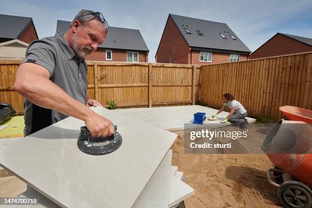
[[[38,39],[33,19],[0,14],[0,43],[14,39],[25,43]]]

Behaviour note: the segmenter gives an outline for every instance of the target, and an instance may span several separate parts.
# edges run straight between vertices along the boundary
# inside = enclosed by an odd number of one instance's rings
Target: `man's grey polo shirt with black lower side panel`
[[[53,83],[72,98],[86,103],[87,64],[84,58],[75,55],[61,32],[57,31],[54,37],[33,41],[26,50],[26,57],[22,63],[24,62],[43,66],[49,71]],[[36,106],[27,99],[24,99],[24,109],[24,136],[68,117],[60,112]]]

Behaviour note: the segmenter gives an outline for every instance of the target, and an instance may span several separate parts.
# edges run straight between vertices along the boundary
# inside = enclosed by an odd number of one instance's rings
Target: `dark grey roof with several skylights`
[[[244,51],[249,48],[225,23],[169,14],[190,47]],[[185,30],[187,29],[189,33]],[[198,32],[199,31],[199,32]],[[199,33],[202,33],[200,35]],[[225,38],[221,37],[221,34]],[[235,40],[231,38],[232,35]]]

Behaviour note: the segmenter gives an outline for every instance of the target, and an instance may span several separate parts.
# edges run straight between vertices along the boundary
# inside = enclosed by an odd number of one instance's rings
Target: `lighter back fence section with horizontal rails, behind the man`
[[[19,60],[0,60],[0,102],[23,113],[22,97],[14,91]],[[87,62],[88,92],[103,106],[120,107],[193,104],[199,96],[199,65]]]

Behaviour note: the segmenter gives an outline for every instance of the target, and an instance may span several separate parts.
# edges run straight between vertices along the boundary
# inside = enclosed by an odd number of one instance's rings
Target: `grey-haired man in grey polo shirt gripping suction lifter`
[[[24,136],[68,116],[85,121],[92,136],[114,133],[112,122],[89,106],[100,106],[87,93],[85,57],[107,36],[108,24],[101,13],[81,10],[63,36],[32,42],[19,66],[14,89],[24,99]]]

